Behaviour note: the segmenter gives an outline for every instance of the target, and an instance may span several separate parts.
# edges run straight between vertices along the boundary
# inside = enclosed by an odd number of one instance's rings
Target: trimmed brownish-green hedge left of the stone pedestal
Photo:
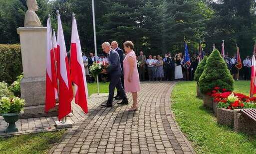
[[[0,81],[11,84],[22,73],[19,44],[0,44]]]

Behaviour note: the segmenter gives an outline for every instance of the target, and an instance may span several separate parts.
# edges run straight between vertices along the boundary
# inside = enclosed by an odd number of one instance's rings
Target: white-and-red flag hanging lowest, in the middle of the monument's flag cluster
[[[71,112],[71,101],[73,90],[71,84],[70,70],[67,59],[67,51],[60,15],[58,18],[57,52],[59,53],[59,63],[57,64],[57,75],[59,78],[59,113],[58,119],[61,120]]]

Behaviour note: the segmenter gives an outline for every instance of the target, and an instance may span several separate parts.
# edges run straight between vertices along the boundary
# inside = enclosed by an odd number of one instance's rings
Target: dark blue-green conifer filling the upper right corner
[[[225,40],[225,50],[229,55],[236,53],[235,42],[241,49],[242,57],[251,55],[253,51],[253,37],[255,29],[254,0],[219,0],[211,2],[215,14],[207,22],[207,45],[211,48],[213,43],[221,48]]]

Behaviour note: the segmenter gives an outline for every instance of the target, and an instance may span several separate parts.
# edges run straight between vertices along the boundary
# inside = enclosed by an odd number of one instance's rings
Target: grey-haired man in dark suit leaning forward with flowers
[[[109,67],[107,70],[103,70],[103,74],[109,74],[110,77],[110,83],[108,86],[109,95],[108,95],[108,101],[106,104],[102,104],[103,107],[111,107],[113,102],[113,96],[115,87],[120,93],[120,97],[123,99],[121,103],[118,104],[128,104],[128,99],[126,97],[126,94],[124,92],[124,88],[121,83],[121,76],[123,74],[121,64],[120,64],[120,58],[116,51],[111,49],[111,46],[108,42],[104,42],[102,44],[103,51],[108,55],[108,63]]]

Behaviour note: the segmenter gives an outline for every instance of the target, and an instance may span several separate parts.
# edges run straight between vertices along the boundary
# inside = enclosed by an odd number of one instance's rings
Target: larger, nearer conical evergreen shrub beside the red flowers
[[[217,49],[208,57],[198,85],[203,94],[211,92],[216,86],[227,91],[234,90],[234,79]]]

